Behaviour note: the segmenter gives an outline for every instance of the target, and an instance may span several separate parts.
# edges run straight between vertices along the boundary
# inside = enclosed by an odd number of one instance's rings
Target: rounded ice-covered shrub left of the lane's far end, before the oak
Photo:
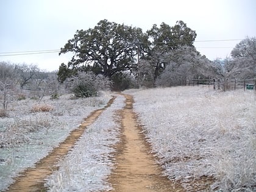
[[[65,80],[66,88],[74,93],[76,98],[89,98],[98,96],[100,90],[108,90],[111,81],[101,74],[91,72],[78,72],[76,76]]]

